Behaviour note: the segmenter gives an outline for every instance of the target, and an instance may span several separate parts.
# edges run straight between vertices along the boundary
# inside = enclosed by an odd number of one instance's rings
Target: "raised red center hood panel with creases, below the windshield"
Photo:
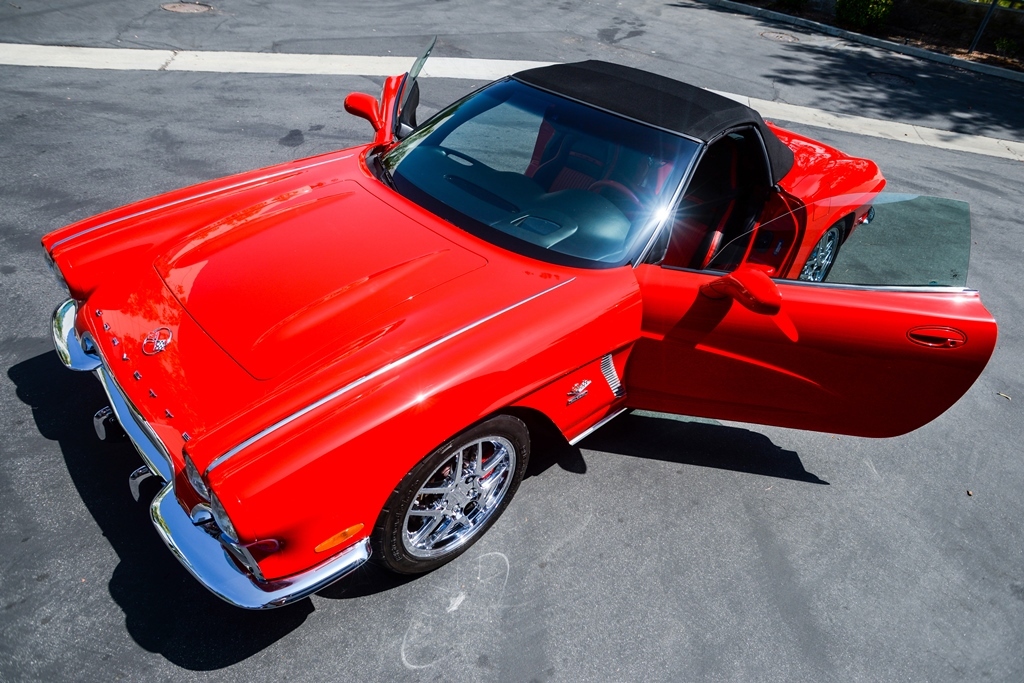
[[[193,231],[156,263],[256,379],[357,343],[365,324],[486,263],[355,180],[303,185]]]

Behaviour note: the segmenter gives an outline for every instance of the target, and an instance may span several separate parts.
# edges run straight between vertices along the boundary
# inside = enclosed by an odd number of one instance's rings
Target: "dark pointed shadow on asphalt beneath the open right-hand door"
[[[580,444],[634,458],[828,485],[804,468],[796,452],[780,449],[764,434],[712,421],[628,413]]]

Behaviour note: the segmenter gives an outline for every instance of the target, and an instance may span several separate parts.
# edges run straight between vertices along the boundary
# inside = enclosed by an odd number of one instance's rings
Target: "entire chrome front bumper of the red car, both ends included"
[[[370,558],[364,540],[311,569],[286,579],[260,581],[231,559],[220,541],[193,523],[174,496],[174,466],[145,419],[118,386],[98,354],[87,352],[75,331],[77,306],[71,299],[53,311],[53,345],[60,360],[80,372],[92,372],[106,392],[118,422],[146,467],[167,485],[150,506],[150,517],[171,553],[211,593],[245,609],[281,607],[315,593],[349,573]]]

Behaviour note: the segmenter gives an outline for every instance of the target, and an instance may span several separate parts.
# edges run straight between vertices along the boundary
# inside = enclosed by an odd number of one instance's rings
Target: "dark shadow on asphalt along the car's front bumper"
[[[92,414],[108,401],[91,373],[70,372],[49,352],[7,375],[40,434],[59,444],[82,502],[118,555],[109,590],[140,647],[184,669],[212,671],[256,654],[305,622],[310,600],[270,611],[239,609],[173,558],[150,521],[159,483],[146,480],[139,502],[132,500],[128,474],[141,465],[138,455],[128,441],[104,443],[93,433]]]

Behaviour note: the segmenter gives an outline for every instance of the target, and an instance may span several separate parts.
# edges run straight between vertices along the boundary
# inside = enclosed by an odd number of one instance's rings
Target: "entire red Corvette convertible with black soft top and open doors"
[[[885,183],[870,161],[600,61],[418,125],[415,74],[346,98],[369,144],[43,238],[57,352],[110,397],[97,433],[127,432],[159,533],[234,605],[371,554],[451,560],[540,428],[646,409],[892,436],[992,352],[977,292],[820,282]]]

